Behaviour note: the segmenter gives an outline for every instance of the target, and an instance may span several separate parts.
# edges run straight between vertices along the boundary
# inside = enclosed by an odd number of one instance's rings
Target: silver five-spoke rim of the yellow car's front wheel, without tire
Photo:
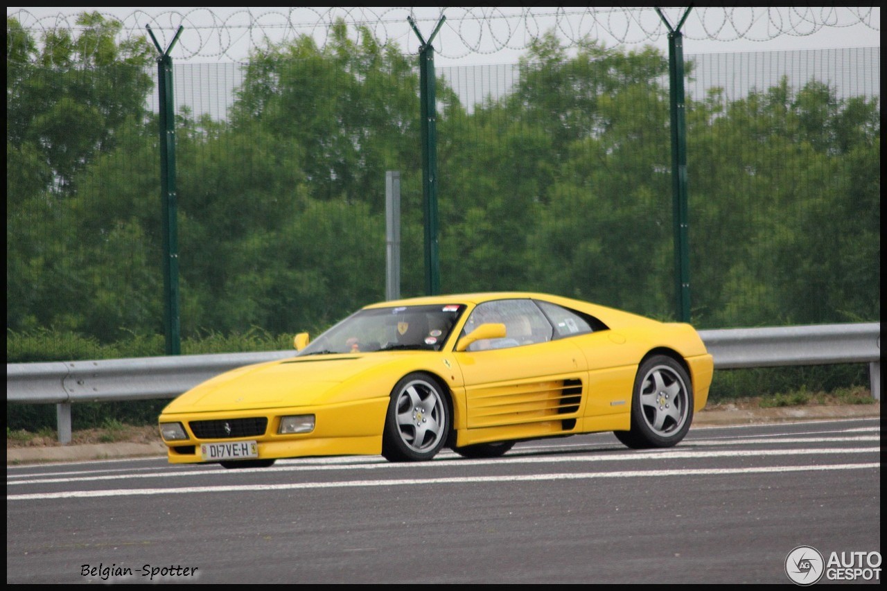
[[[446,435],[446,402],[428,380],[406,382],[396,394],[396,425],[401,441],[416,453],[435,449]]]

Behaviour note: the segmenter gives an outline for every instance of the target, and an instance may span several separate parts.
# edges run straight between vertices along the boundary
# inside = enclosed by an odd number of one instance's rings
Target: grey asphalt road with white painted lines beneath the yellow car
[[[801,545],[880,553],[880,473],[879,418],[695,427],[652,452],[568,437],[493,461],[7,466],[6,578],[784,584]]]

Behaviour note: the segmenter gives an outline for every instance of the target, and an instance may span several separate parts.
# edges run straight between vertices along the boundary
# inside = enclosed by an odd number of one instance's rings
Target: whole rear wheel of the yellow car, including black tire
[[[614,431],[632,449],[671,447],[693,422],[693,384],[677,361],[664,355],[645,360],[632,390],[632,429]]]

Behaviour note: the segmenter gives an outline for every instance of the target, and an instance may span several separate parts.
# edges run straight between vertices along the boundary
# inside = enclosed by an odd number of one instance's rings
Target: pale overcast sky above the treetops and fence
[[[290,12],[292,10],[292,12]],[[645,21],[629,23],[624,20],[624,12],[614,9],[603,23],[607,8],[596,9],[600,12],[599,24],[593,27],[582,7],[561,7],[561,18],[557,20],[558,7],[538,7],[530,9],[534,15],[532,20],[521,20],[514,15],[521,13],[521,7],[414,7],[412,8],[420,33],[427,39],[433,32],[436,20],[441,11],[447,20],[434,41],[437,66],[466,66],[475,64],[510,64],[515,63],[524,52],[528,38],[528,28],[537,31],[548,30],[555,23],[560,23],[563,35],[581,36],[590,34],[605,45],[624,44],[628,47],[640,47],[650,43],[667,51],[667,29],[663,28],[658,15],[653,11],[645,12]],[[671,26],[676,26],[685,8],[669,7],[663,9]],[[6,14],[14,15],[27,11],[35,20],[24,25],[50,27],[59,14],[73,17],[80,12],[98,11],[114,15],[124,22],[130,23],[133,29],[144,31],[145,23],[151,22],[158,41],[164,47],[172,40],[178,24],[184,25],[184,33],[179,42],[180,51],[197,51],[199,55],[190,58],[193,62],[213,62],[218,59],[219,24],[226,25],[231,35],[224,40],[229,59],[242,59],[249,46],[247,23],[257,25],[263,34],[273,35],[285,30],[280,27],[288,14],[293,22],[304,28],[299,32],[307,32],[310,26],[326,22],[331,14],[345,16],[346,20],[367,20],[375,34],[380,38],[396,40],[406,51],[418,50],[419,41],[415,32],[406,22],[410,7],[297,7],[288,9],[279,6],[253,7],[212,7],[197,6],[150,6],[144,8],[128,7],[70,7],[70,6],[7,6]],[[139,12],[136,18],[134,14]],[[730,12],[729,22],[725,22],[725,11]],[[691,12],[682,28],[684,34],[684,53],[724,53],[736,51],[785,51],[811,49],[838,49],[848,47],[880,47],[881,46],[881,9],[878,7],[770,7],[769,13],[762,7],[750,12],[740,8],[697,7]],[[806,12],[804,12],[806,11]],[[870,11],[870,12],[869,12]],[[752,19],[754,14],[757,19]],[[844,26],[857,20],[855,15],[864,14],[867,22],[853,26]],[[182,17],[184,16],[184,21]],[[464,17],[464,18],[463,18]],[[477,17],[483,17],[478,19]],[[813,31],[810,22],[830,20],[839,26],[830,26]],[[73,18],[67,20],[73,23]],[[704,22],[704,26],[703,26]],[[326,29],[326,28],[324,28]],[[714,31],[717,39],[703,38],[706,29]],[[737,29],[742,30],[745,38]],[[292,29],[290,29],[292,35]],[[786,31],[786,32],[782,32]],[[655,38],[649,38],[652,32]],[[189,37],[187,34],[191,34]],[[214,38],[215,33],[215,38]],[[615,33],[616,36],[611,35]],[[461,39],[460,39],[461,37]],[[773,38],[771,38],[773,37]],[[462,40],[467,40],[467,47]],[[320,39],[322,42],[322,39]],[[503,48],[503,45],[510,47]],[[216,54],[215,56],[213,54]],[[235,58],[232,53],[242,54]],[[172,52],[176,59],[176,51]]]

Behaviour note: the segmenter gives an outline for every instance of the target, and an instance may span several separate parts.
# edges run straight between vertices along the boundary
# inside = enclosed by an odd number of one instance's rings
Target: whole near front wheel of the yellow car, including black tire
[[[450,431],[450,400],[428,374],[405,375],[391,390],[382,455],[389,461],[430,460]]]

